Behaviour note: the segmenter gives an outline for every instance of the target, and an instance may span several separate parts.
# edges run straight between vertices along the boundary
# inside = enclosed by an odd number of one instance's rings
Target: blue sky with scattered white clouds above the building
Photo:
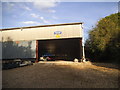
[[[85,39],[98,20],[118,12],[117,2],[2,2],[2,27],[84,22]]]

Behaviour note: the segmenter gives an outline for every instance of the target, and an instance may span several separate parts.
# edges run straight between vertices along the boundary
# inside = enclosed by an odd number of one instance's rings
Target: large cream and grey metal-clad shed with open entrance
[[[56,60],[83,57],[82,24],[65,23],[2,29],[2,59],[40,60],[53,55]]]

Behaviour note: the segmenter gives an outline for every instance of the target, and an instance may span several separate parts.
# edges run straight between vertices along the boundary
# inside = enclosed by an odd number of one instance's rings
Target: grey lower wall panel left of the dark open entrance
[[[2,43],[2,59],[36,58],[36,41],[8,41]]]

